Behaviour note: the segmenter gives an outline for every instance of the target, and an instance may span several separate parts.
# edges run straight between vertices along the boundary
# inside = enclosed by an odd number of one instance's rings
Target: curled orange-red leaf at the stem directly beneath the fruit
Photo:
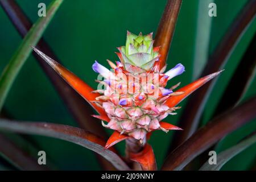
[[[146,144],[141,152],[136,154],[130,152],[129,156],[131,160],[138,162],[141,165],[143,171],[156,170],[154,151],[149,144]]]

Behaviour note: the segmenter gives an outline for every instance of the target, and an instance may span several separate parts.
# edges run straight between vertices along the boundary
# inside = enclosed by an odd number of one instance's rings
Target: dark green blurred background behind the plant
[[[38,3],[45,2],[49,5],[50,1],[20,0],[17,2],[32,22],[35,22],[38,19]],[[210,2],[217,4],[217,17],[208,16]],[[246,0],[183,1],[167,63],[168,69],[177,63],[182,63],[185,65],[186,72],[173,79],[170,85],[181,81],[181,86],[184,86],[199,76],[203,65],[207,62],[207,57],[214,53],[214,48],[246,2]],[[125,44],[127,30],[135,34],[141,31],[144,34],[155,33],[165,5],[166,1],[163,0],[66,0],[43,37],[66,68],[96,88],[94,79],[97,75],[91,69],[94,60],[104,65],[107,65],[106,59],[117,60],[114,52],[117,51],[116,47]],[[22,39],[2,8],[0,8],[0,26],[0,72],[2,72]],[[230,55],[225,72],[221,73],[217,86],[213,89],[205,107],[202,125],[212,118],[221,94],[255,31],[256,21],[254,20],[233,54]],[[255,95],[256,80],[254,78],[246,98]],[[184,104],[185,101],[181,106]],[[16,78],[4,109],[7,115],[14,119],[77,126],[33,56],[30,56]],[[166,121],[176,124],[181,113],[182,109],[176,116],[168,117]],[[226,137],[217,147],[217,151],[232,146],[255,129],[256,121],[242,127]],[[159,167],[167,154],[172,134],[172,131],[168,134],[156,131],[150,139]],[[100,169],[93,152],[85,148],[46,137],[32,136],[30,139],[39,146],[40,150],[46,151],[47,159],[51,160],[58,169]],[[117,146],[123,153],[124,142]],[[31,153],[37,157],[36,152]],[[230,160],[222,169],[245,170],[255,164],[255,159],[256,145],[254,144]]]

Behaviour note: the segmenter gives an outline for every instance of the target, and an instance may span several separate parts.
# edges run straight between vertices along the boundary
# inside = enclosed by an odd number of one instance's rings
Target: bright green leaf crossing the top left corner
[[[22,65],[32,52],[30,46],[35,46],[43,35],[44,30],[55,15],[63,0],[55,0],[48,6],[45,17],[39,18],[32,26],[22,43],[14,53],[9,64],[4,69],[0,77],[0,110],[6,100],[7,94],[13,84],[15,77],[18,75]]]

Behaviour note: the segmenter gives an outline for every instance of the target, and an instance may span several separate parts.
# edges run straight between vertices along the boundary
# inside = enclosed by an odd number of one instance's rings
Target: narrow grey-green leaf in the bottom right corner
[[[200,171],[219,171],[224,164],[232,159],[237,154],[240,154],[243,150],[250,147],[256,142],[256,133],[251,137],[242,140],[236,146],[229,148],[217,155],[217,164],[209,164],[208,161],[199,169]]]

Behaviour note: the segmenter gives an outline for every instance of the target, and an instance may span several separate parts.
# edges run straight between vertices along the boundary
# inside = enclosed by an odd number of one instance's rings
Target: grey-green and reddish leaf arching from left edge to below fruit
[[[43,135],[76,143],[102,155],[119,170],[130,169],[114,150],[107,150],[104,148],[105,141],[103,139],[77,127],[57,125],[53,123],[16,122],[0,119],[0,129],[23,134]]]

